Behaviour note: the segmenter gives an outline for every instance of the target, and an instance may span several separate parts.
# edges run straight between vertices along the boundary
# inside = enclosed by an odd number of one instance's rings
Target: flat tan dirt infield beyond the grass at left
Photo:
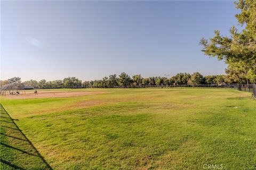
[[[34,94],[34,91],[26,91],[26,95],[21,93],[20,95],[6,95],[6,98],[9,99],[32,99],[32,98],[51,98],[51,97],[76,97],[76,96],[85,96],[85,95],[95,95],[103,94],[106,92],[103,91],[37,91],[38,95]]]

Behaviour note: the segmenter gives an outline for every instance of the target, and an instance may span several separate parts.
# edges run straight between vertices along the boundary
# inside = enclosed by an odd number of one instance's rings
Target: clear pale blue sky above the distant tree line
[[[1,1],[1,79],[225,73],[198,45],[229,35],[233,1]]]

